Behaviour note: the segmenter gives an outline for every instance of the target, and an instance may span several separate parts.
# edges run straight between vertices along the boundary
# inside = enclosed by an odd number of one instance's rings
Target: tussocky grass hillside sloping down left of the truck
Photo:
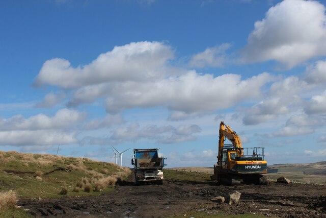
[[[87,158],[0,151],[0,191],[14,190],[18,197],[99,195],[129,174],[128,167]]]

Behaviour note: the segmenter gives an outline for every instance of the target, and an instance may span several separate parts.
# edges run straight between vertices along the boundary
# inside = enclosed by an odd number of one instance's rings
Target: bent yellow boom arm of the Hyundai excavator
[[[224,124],[224,121],[220,124],[220,135],[219,135],[219,156],[218,159],[221,160],[221,154],[224,147],[225,138],[229,139],[233,144],[235,149],[239,149],[239,156],[242,156],[242,143],[240,136],[236,134],[229,126]]]

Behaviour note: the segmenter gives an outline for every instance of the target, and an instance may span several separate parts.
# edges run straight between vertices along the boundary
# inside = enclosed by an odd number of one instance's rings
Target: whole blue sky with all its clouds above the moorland
[[[1,1],[0,149],[212,166],[224,120],[268,164],[324,161],[325,5]]]

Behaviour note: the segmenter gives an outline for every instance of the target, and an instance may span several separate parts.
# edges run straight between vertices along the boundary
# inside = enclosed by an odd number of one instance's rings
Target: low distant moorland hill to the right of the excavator
[[[302,173],[304,175],[326,176],[326,161],[317,163],[286,163],[267,167],[268,173]]]

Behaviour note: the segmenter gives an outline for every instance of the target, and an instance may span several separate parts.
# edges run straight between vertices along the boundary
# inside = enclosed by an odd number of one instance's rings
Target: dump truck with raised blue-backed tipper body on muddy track
[[[159,149],[133,149],[131,164],[135,175],[136,184],[154,182],[163,184],[163,172],[167,158],[158,157]]]

